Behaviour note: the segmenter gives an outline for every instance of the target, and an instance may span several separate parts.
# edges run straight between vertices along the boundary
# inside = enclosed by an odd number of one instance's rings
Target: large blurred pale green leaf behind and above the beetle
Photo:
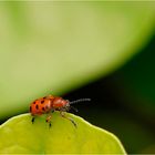
[[[154,14],[154,2],[1,2],[0,117],[116,70],[149,40]]]

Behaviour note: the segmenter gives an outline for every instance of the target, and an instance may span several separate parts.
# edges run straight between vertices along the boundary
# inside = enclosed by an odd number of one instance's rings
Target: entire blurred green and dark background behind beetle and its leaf
[[[155,2],[0,2],[0,118],[48,95],[155,153]]]

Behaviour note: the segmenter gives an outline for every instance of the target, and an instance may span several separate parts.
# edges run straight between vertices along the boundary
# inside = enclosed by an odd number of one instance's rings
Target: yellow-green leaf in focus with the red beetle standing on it
[[[10,118],[0,126],[0,153],[114,153],[125,154],[121,142],[113,134],[99,128],[83,118],[66,113],[78,127],[62,118],[58,112],[52,115],[52,127],[45,123],[45,115],[31,123],[30,114]]]

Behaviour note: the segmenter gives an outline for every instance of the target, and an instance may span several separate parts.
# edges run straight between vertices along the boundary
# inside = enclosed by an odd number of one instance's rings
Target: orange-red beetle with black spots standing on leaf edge
[[[84,101],[90,101],[90,99],[80,99],[72,102],[70,102],[69,100],[64,100],[60,96],[53,96],[53,95],[38,99],[33,101],[30,105],[32,123],[34,123],[35,116],[42,115],[42,114],[49,114],[45,121],[49,123],[49,126],[51,127],[51,114],[54,111],[60,111],[61,116],[71,121],[73,125],[76,127],[76,123],[71,117],[65,116],[64,112],[69,111],[71,107],[74,108],[73,106],[71,106],[71,104],[74,104],[78,102],[84,102]],[[76,108],[74,110],[76,111]]]

